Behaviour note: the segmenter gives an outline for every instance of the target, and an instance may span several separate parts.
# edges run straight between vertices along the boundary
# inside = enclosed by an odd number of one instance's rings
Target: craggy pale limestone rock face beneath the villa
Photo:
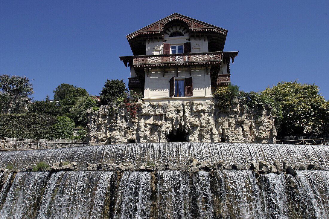
[[[101,106],[98,113],[87,110],[87,140],[92,145],[166,142],[176,135],[187,141],[275,143],[271,108],[249,110],[235,103],[219,110],[214,102],[143,104],[139,100],[136,118],[131,118],[124,104],[113,112]]]

